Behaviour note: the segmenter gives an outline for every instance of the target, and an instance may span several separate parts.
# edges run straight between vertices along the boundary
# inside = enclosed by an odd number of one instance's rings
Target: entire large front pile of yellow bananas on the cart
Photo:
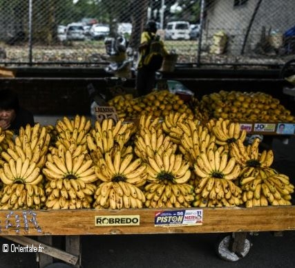
[[[4,133],[4,134],[3,134]],[[84,115],[1,132],[1,209],[142,209],[291,205],[274,152],[230,119],[170,111],[138,122]]]

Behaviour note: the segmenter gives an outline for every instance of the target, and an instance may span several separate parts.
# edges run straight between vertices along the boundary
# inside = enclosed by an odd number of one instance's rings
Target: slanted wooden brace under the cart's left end
[[[41,251],[44,254],[47,254],[49,256],[52,256],[53,258],[57,258],[59,260],[64,260],[64,262],[68,262],[72,265],[76,265],[78,261],[78,257],[74,256],[73,254],[70,254],[66,251],[62,251],[60,249],[56,249],[55,247],[51,247],[49,245],[46,245],[44,243],[38,242],[36,240],[33,240],[31,238],[28,238],[26,236],[2,236],[3,238],[6,238],[8,240],[11,240],[13,242],[17,242],[19,245],[23,245],[26,247],[27,245],[30,247],[33,245],[34,247],[42,247]]]

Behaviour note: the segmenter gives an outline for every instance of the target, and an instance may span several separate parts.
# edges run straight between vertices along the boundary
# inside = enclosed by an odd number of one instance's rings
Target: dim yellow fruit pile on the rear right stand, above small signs
[[[198,111],[209,118],[232,122],[294,122],[295,117],[280,100],[262,92],[220,90],[202,96]]]

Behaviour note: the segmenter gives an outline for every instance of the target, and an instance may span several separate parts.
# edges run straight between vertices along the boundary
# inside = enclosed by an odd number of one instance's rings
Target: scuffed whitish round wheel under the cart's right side
[[[236,262],[245,258],[250,251],[251,242],[245,238],[235,238],[238,233],[229,234],[220,238],[217,243],[216,253],[222,260]]]

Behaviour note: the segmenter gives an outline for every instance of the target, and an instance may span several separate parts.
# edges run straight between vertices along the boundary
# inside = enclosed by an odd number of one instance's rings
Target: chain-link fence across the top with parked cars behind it
[[[124,35],[136,61],[148,19],[178,64],[284,64],[295,53],[294,0],[0,0],[0,64],[103,65]]]

